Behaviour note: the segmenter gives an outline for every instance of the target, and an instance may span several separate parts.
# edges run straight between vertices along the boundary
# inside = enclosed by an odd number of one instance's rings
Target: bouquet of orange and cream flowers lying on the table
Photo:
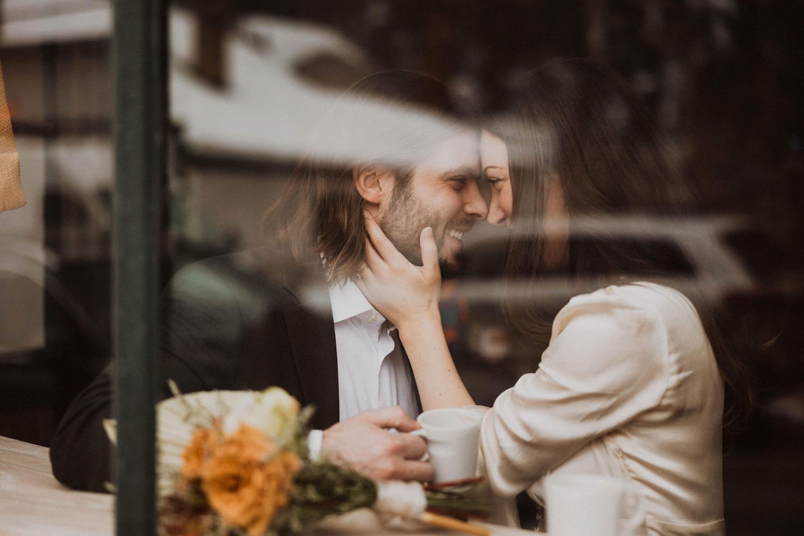
[[[179,394],[157,406],[159,534],[293,534],[337,513],[369,507],[453,530],[488,534],[461,517],[482,514],[472,490],[373,481],[307,451],[311,407],[278,387]],[[116,442],[113,420],[105,423]]]

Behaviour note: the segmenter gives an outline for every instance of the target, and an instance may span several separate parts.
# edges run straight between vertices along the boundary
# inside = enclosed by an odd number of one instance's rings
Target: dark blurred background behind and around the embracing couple
[[[110,2],[2,0],[0,62],[28,204],[0,214],[0,435],[47,445],[109,361]],[[759,397],[724,442],[729,534],[804,519],[804,3],[797,0],[176,0],[169,14],[165,278],[260,245],[260,221],[318,117],[387,68],[425,71],[467,111],[505,109],[530,68],[580,56],[649,103],[706,208],[643,225],[749,332]],[[625,233],[625,232],[624,232]],[[631,236],[635,233],[634,236]],[[466,237],[445,330],[490,405],[539,349],[498,320],[501,245]],[[528,522],[527,510],[524,522]]]

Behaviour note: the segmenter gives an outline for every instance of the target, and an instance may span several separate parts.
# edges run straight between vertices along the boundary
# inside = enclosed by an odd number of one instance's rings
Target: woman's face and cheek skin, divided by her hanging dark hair
[[[514,197],[511,192],[511,171],[505,142],[483,130],[480,136],[480,162],[483,175],[491,185],[488,221],[491,225],[511,227]],[[564,191],[558,175],[545,184],[544,199],[544,270],[555,270],[568,262],[569,219]]]

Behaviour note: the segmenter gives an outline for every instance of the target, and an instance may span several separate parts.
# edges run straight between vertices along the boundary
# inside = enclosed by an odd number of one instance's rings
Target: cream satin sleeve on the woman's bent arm
[[[519,493],[580,447],[658,405],[667,329],[616,289],[576,296],[553,322],[539,369],[483,418],[482,464],[494,493]]]

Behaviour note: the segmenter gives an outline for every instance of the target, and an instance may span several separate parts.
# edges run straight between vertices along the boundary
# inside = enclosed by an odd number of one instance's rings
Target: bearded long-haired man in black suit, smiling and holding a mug
[[[162,396],[280,386],[313,404],[314,456],[378,479],[429,480],[412,431],[415,379],[396,328],[352,278],[364,266],[363,211],[420,263],[432,227],[442,270],[457,267],[463,234],[486,217],[478,189],[478,129],[457,120],[444,86],[419,73],[360,80],[322,119],[265,219],[271,245],[196,262],[164,293]],[[56,478],[103,491],[111,416],[106,369],[68,408],[51,444]]]

